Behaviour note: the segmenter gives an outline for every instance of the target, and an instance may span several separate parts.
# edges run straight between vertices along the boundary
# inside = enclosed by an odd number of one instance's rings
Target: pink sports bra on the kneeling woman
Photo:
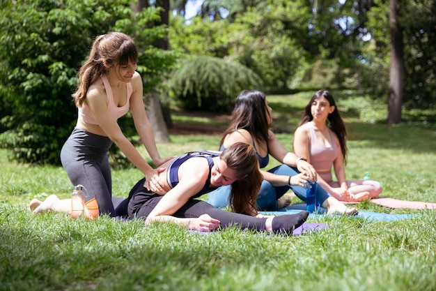
[[[102,75],[102,81],[107,95],[107,103],[106,103],[107,109],[109,110],[112,117],[114,117],[114,119],[118,119],[129,111],[130,96],[132,96],[132,92],[133,92],[132,83],[126,83],[127,101],[125,105],[121,107],[117,107],[114,103],[114,95],[112,94],[111,85],[109,84],[109,81],[107,80],[107,77],[105,75]],[[86,103],[83,103],[83,105],[81,105],[81,107],[79,107],[78,110],[79,110],[79,119],[85,121],[87,124],[97,124],[97,121],[95,121],[93,115],[91,114],[91,110],[89,110],[89,107]]]

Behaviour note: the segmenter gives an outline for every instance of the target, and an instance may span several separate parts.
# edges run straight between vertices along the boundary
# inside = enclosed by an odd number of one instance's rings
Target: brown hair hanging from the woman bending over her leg
[[[221,153],[227,166],[238,172],[237,181],[231,185],[230,204],[232,211],[252,214],[256,209],[256,199],[263,181],[254,147],[244,142],[235,142]]]

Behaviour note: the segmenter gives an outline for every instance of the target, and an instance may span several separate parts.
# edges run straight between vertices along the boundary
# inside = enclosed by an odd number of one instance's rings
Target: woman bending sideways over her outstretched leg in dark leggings
[[[163,191],[147,190],[141,179],[122,203],[128,202],[130,218],[146,217],[146,224],[172,221],[203,232],[238,225],[242,229],[292,234],[309,215],[307,211],[276,217],[257,214],[254,203],[262,175],[256,151],[249,144],[235,143],[222,153],[189,152],[164,163],[162,168],[165,170],[159,177],[164,181]],[[231,207],[237,213],[194,199],[222,185],[231,185]],[[45,208],[50,210],[48,205]]]

